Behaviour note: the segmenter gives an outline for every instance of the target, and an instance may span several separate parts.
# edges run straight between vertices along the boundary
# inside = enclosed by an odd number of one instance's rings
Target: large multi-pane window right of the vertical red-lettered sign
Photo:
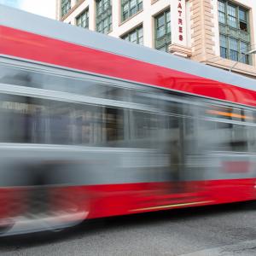
[[[230,1],[218,0],[220,56],[250,64],[248,11]]]

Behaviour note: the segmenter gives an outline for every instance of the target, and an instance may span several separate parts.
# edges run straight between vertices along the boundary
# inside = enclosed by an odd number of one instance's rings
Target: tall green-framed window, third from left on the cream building
[[[96,0],[96,31],[108,34],[112,30],[112,0]]]

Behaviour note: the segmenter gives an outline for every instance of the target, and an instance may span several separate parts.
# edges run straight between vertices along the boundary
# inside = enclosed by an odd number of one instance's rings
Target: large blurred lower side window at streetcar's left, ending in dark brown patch
[[[124,140],[124,111],[0,95],[1,143],[107,145]]]

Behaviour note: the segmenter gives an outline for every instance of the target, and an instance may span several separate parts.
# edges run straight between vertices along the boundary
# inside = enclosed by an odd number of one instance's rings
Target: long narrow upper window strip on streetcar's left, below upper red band
[[[137,90],[128,90],[91,79],[74,79],[14,67],[0,68],[0,83],[34,87],[44,90],[58,90],[118,101],[150,104],[147,94],[139,93]]]

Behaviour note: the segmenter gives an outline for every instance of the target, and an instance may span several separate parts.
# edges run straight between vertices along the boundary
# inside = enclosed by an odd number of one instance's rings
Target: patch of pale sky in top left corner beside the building
[[[55,0],[0,0],[1,3],[55,19]]]

